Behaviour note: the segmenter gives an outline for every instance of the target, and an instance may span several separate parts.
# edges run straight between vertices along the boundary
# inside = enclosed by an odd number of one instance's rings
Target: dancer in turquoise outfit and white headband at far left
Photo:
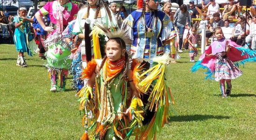
[[[14,44],[16,50],[19,52],[18,59],[17,59],[17,66],[27,67],[27,63],[24,59],[24,52],[28,53],[28,56],[32,56],[33,52],[29,49],[32,45],[29,45],[29,42],[33,40],[32,35],[29,31],[29,22],[33,22],[32,19],[29,19],[27,15],[27,8],[20,7],[19,8],[19,15],[14,17]]]

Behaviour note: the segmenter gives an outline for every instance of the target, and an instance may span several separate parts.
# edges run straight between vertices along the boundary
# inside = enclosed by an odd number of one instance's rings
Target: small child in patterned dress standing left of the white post
[[[190,56],[190,62],[195,62],[195,56],[197,56],[197,29],[192,28],[192,33],[188,37],[188,54]]]

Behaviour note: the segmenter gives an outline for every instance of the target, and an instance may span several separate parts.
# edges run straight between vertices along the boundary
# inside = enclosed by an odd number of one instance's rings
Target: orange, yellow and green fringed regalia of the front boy
[[[129,82],[122,79],[123,59],[106,60],[94,87],[85,86],[77,93],[85,127],[80,140],[127,140],[130,136],[136,136],[136,140],[156,139],[156,133],[171,115],[174,101],[164,76],[165,64],[171,61],[169,55],[153,59],[150,69],[149,63],[132,61],[133,83],[140,98],[131,97]],[[96,62],[88,63],[82,78],[91,77]],[[132,111],[126,115],[129,105]]]

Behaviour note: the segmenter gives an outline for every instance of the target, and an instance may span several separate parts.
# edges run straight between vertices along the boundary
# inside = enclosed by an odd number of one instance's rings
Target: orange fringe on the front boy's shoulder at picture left
[[[89,79],[92,77],[92,74],[95,70],[97,66],[97,63],[95,62],[95,60],[93,59],[92,61],[90,61],[87,66],[85,67],[85,69],[82,71],[81,73],[81,79]]]

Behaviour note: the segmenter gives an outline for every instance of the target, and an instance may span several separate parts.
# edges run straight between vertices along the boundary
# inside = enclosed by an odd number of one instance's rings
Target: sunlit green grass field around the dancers
[[[219,83],[204,80],[204,70],[191,73],[188,54],[180,56],[167,67],[178,114],[157,140],[255,140],[256,63],[240,67],[232,94],[221,98]],[[25,58],[27,68],[16,66],[14,45],[0,44],[0,140],[78,140],[84,130],[71,79],[67,91],[51,93],[44,61]]]

